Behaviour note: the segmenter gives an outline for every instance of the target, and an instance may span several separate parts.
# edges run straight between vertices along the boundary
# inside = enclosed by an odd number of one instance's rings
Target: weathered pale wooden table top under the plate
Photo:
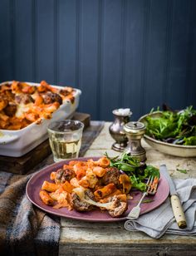
[[[109,133],[110,122],[94,140],[85,156],[119,155],[111,150],[114,140]],[[159,167],[167,164],[173,178],[196,178],[196,158],[179,158],[153,150],[142,141],[147,163]],[[176,169],[188,170],[187,174]],[[124,221],[114,223],[88,223],[61,218],[59,255],[195,255],[196,237],[165,234],[161,239],[151,239],[141,232],[129,232]]]

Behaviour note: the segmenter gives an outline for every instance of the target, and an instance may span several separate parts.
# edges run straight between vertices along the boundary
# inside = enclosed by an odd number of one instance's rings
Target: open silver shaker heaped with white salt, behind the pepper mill
[[[115,143],[111,146],[113,150],[123,151],[125,150],[128,139],[123,130],[123,126],[130,121],[130,116],[132,112],[129,108],[127,109],[117,109],[112,111],[115,116],[115,121],[110,125],[109,131]]]

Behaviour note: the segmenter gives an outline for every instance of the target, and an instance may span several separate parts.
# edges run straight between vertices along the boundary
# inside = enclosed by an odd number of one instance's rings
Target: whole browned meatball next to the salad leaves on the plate
[[[120,171],[116,167],[106,168],[105,175],[102,177],[102,184],[108,185],[114,183],[116,187],[120,188]]]

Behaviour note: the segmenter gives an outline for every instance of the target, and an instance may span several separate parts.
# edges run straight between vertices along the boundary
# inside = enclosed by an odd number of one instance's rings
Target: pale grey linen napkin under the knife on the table
[[[126,220],[125,229],[142,231],[154,239],[159,239],[164,234],[196,235],[196,179],[174,180],[174,185],[183,203],[186,229],[179,229],[169,198],[159,208],[141,215],[139,219]]]

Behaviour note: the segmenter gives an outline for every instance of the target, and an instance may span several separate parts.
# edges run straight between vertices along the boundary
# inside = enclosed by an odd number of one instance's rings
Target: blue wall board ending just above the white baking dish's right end
[[[59,0],[59,64],[61,86],[76,86],[76,0]]]

